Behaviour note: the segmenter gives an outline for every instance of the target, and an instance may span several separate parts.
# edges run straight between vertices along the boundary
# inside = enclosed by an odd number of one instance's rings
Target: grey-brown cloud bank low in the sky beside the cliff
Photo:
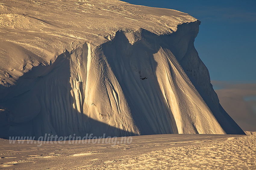
[[[222,107],[243,129],[256,131],[256,83],[232,84],[212,81],[222,89],[215,90]]]

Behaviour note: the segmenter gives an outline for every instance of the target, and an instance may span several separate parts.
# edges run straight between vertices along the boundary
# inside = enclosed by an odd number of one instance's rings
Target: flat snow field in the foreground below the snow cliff
[[[9,144],[0,169],[256,169],[256,135],[133,136],[130,144]],[[37,142],[37,141],[36,141]]]

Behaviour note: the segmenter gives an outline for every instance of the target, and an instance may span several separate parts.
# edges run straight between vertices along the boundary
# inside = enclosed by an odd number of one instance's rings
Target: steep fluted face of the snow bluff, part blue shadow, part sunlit
[[[39,55],[9,43],[19,60],[1,64],[0,137],[244,134],[220,106],[195,50],[200,21],[184,14],[190,21],[179,25],[180,16],[172,17],[174,31],[119,29],[104,41],[55,49],[54,56],[47,45],[34,44],[44,49]],[[10,56],[9,46],[4,49]]]

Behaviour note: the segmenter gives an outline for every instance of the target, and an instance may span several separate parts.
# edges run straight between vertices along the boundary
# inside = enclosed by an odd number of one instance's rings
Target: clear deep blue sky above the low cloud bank
[[[256,83],[256,1],[124,0],[189,13],[201,21],[195,48],[211,80]],[[217,86],[215,86],[217,88]]]

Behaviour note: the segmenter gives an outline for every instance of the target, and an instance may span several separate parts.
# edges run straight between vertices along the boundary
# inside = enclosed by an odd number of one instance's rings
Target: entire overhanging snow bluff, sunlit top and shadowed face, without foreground
[[[114,0],[0,8],[0,137],[244,134],[198,57],[192,16]]]

